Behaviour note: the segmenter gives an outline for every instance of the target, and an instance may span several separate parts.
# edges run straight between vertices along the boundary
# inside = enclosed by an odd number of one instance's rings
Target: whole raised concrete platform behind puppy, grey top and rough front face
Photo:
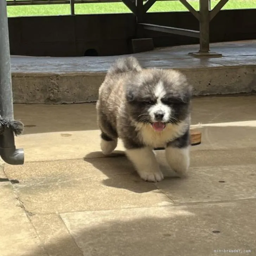
[[[142,66],[182,71],[194,95],[250,93],[256,90],[256,40],[216,43],[221,58],[194,58],[198,45],[175,46],[136,53]],[[128,55],[127,55],[128,56]],[[94,102],[105,73],[116,58],[12,56],[15,103],[59,104]]]

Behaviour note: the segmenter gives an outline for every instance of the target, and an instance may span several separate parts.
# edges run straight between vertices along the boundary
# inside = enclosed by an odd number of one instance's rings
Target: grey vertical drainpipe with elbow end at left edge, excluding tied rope
[[[11,60],[6,0],[0,0],[0,118],[13,120]],[[24,163],[23,149],[16,149],[11,127],[0,134],[1,158],[11,165]]]

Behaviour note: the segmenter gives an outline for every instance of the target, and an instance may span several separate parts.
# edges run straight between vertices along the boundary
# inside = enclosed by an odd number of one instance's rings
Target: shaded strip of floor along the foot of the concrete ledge
[[[210,129],[211,124],[215,127],[215,123],[227,123],[225,128],[220,126],[214,128],[223,130],[229,129],[229,122],[237,122],[239,126],[239,122],[255,121],[255,99],[256,96],[194,98],[192,100],[192,125],[207,124],[204,129],[208,127]],[[22,120],[25,124],[24,134],[50,132],[70,134],[72,131],[98,130],[96,103],[14,104],[14,113],[15,118]],[[235,124],[232,125],[234,127],[230,129],[237,129],[241,132],[244,129],[244,127],[236,128]],[[242,134],[240,136],[243,137]]]

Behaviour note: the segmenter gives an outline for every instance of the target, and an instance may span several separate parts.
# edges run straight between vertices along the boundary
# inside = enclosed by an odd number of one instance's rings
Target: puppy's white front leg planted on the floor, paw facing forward
[[[151,148],[127,149],[126,154],[143,180],[155,182],[164,179]]]

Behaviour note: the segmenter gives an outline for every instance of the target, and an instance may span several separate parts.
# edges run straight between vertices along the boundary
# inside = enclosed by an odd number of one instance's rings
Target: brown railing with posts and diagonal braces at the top
[[[0,0],[2,1],[2,0]],[[48,5],[48,4],[69,4],[71,15],[75,14],[75,4],[86,4],[86,3],[111,3],[111,2],[123,2],[129,9],[136,15],[137,20],[137,31],[143,30],[154,30],[171,34],[179,34],[182,36],[196,37],[200,39],[200,48],[197,53],[192,53],[194,57],[221,57],[218,53],[210,52],[210,21],[215,15],[222,9],[222,7],[229,0],[219,0],[218,4],[211,9],[211,0],[198,0],[199,11],[194,9],[187,0],[171,0],[180,1],[188,11],[199,21],[199,31],[187,30],[185,28],[167,27],[160,26],[151,23],[145,23],[145,14],[152,7],[156,1],[166,0],[7,0],[7,6],[13,5]],[[140,33],[140,32],[138,32]],[[140,37],[140,34],[137,34]]]

